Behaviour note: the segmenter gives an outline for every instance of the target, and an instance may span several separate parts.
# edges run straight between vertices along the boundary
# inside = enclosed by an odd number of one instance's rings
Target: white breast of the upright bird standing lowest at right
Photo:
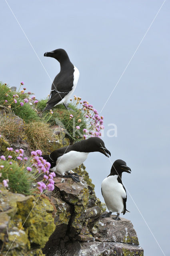
[[[126,198],[126,191],[117,178],[118,175],[112,175],[102,181],[102,194],[109,212],[121,213],[124,210],[123,198]]]

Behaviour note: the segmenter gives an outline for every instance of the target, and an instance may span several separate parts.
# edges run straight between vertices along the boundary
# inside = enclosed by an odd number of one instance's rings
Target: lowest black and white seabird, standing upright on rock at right
[[[116,212],[117,216],[113,219],[120,220],[120,213],[129,212],[126,210],[127,194],[122,184],[122,172],[130,173],[131,170],[126,162],[118,159],[113,163],[109,176],[102,181],[102,196],[109,210],[102,215],[103,218],[110,217],[112,212]]]

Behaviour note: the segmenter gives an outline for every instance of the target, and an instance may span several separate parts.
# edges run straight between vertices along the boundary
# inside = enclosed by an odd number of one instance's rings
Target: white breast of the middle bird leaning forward
[[[86,160],[88,154],[89,153],[86,152],[72,150],[58,157],[54,172],[58,173],[59,175],[64,175],[65,172],[70,171],[82,164]]]

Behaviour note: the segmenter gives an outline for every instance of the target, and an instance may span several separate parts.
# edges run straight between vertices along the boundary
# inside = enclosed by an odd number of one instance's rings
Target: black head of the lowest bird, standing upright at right
[[[124,162],[121,159],[116,160],[111,168],[110,175],[122,175],[122,172],[128,172],[131,173],[130,168],[126,165],[126,162]]]

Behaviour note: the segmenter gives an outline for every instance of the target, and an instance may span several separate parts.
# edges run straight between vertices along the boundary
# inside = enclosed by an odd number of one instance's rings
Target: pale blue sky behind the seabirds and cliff
[[[44,52],[64,48],[80,71],[75,94],[100,111],[150,26],[163,0],[9,0],[26,36],[49,76],[59,64]],[[166,1],[124,72],[102,115],[106,130],[114,123],[117,138],[104,136],[112,152],[132,173],[123,181],[165,255],[169,254],[170,212],[170,2]],[[0,80],[26,88],[37,98],[51,81],[5,0],[0,2]],[[102,200],[100,186],[111,163],[99,153],[85,162]],[[127,209],[145,256],[161,256],[142,216],[128,194]]]

